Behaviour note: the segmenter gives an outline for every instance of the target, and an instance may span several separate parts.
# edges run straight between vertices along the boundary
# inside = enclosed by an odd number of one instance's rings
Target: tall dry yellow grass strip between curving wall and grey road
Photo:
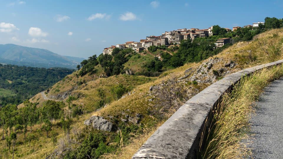
[[[283,65],[243,77],[213,111],[214,117],[202,153],[204,159],[242,159],[251,151],[241,140],[248,138],[253,103],[266,85],[283,76]],[[204,144],[203,143],[203,144]]]

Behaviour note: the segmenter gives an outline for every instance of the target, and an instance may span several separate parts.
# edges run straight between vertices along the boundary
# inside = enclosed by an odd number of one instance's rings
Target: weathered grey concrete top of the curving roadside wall
[[[196,158],[205,120],[223,93],[230,90],[243,75],[280,63],[283,60],[244,69],[213,83],[182,105],[132,158]]]

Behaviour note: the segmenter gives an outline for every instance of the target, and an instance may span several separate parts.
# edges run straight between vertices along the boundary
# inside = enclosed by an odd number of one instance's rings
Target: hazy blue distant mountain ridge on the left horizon
[[[81,61],[83,58],[61,56],[46,49],[0,44],[0,63],[45,68],[75,68]]]

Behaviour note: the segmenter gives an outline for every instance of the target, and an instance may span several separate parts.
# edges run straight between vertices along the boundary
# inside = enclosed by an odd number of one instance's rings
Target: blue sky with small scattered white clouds
[[[232,29],[266,16],[283,18],[281,0],[0,0],[0,44],[87,58],[103,48],[181,28]]]

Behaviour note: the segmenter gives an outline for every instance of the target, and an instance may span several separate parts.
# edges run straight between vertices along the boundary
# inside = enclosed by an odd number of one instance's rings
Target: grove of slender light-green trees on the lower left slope
[[[6,140],[9,151],[13,151],[16,143],[35,143],[42,131],[46,132],[46,137],[51,138],[53,144],[57,142],[56,127],[60,127],[64,132],[69,132],[72,118],[81,114],[79,107],[73,106],[71,111],[65,112],[63,102],[48,100],[42,107],[37,107],[35,103],[24,101],[24,107],[17,108],[17,105],[7,104],[0,108],[0,126],[2,128],[2,140]],[[40,125],[35,133],[32,133],[34,125]],[[52,130],[53,129],[53,130]],[[35,134],[38,135],[35,135]],[[24,141],[18,142],[19,134],[24,136]]]

